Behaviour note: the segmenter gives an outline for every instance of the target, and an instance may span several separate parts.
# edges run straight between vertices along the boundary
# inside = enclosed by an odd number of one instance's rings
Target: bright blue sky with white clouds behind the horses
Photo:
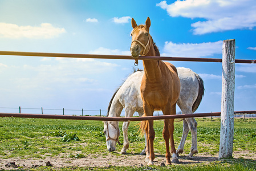
[[[256,59],[255,9],[254,0],[0,0],[0,50],[130,55],[131,18],[150,17],[161,56],[222,58],[222,40],[235,39],[236,59]],[[0,56],[0,107],[106,110],[133,63]],[[172,63],[204,80],[197,112],[220,112],[221,63]],[[255,74],[256,64],[235,64],[235,111],[255,110]]]

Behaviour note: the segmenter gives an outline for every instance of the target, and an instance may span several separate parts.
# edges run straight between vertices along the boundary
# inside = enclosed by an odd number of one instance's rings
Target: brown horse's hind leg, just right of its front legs
[[[170,108],[170,115],[176,115],[176,104],[172,105],[172,107]],[[173,138],[174,119],[169,120],[169,132],[170,132],[170,152],[172,153],[172,162],[180,163],[178,161],[178,156],[176,155],[176,149],[174,146],[174,138]]]

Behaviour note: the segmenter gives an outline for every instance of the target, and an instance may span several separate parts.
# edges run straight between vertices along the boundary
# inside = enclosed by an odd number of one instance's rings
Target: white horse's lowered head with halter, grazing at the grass
[[[104,121],[104,134],[106,137],[107,149],[109,152],[116,150],[116,143],[119,142],[120,129],[118,122]]]

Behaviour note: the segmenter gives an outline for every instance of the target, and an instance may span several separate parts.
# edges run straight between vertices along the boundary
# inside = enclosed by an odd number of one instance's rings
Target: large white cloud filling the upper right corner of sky
[[[185,0],[170,5],[157,3],[171,17],[204,18],[206,21],[192,23],[196,35],[225,30],[253,28],[256,26],[256,3],[254,0]]]

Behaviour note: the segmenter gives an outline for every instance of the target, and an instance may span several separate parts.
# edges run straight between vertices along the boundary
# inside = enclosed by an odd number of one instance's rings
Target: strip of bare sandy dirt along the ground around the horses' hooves
[[[155,165],[161,165],[162,162],[165,162],[165,156],[162,154],[155,153],[156,158],[154,160]],[[64,168],[64,167],[108,167],[108,166],[142,166],[147,165],[145,162],[145,156],[140,156],[138,154],[124,154],[121,156],[116,156],[115,154],[109,153],[107,156],[102,156],[100,154],[90,154],[83,158],[70,158],[65,157],[68,154],[63,153],[58,157],[46,157],[45,159],[19,159],[19,158],[9,158],[2,159],[0,158],[0,170],[5,169],[18,169],[20,166],[23,169],[36,168],[38,166],[52,166],[52,168]],[[210,154],[199,153],[194,155],[193,160],[185,160],[184,155],[179,156],[179,161],[181,165],[186,164],[200,164],[203,162],[212,162],[217,161],[218,156],[212,156]],[[245,158],[256,160],[256,153],[249,151],[243,152],[233,152],[234,158]],[[176,164],[174,164],[176,165]]]

